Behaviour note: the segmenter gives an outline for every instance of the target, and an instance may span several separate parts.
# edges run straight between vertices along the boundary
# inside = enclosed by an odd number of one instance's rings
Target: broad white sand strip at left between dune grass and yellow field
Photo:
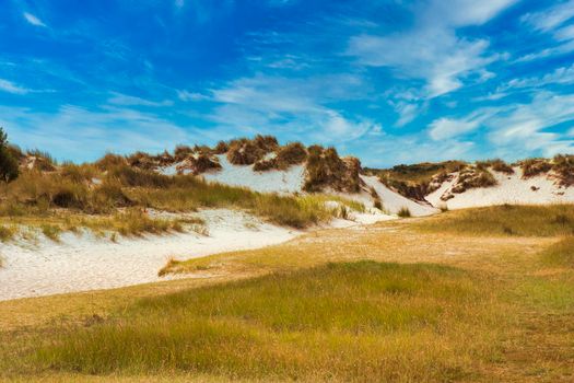
[[[301,232],[233,210],[199,213],[209,236],[197,233],[120,239],[118,243],[91,234],[66,233],[61,243],[45,237],[37,245],[0,245],[0,300],[110,289],[159,281],[157,271],[171,256],[188,259],[209,254],[263,247],[289,241]]]

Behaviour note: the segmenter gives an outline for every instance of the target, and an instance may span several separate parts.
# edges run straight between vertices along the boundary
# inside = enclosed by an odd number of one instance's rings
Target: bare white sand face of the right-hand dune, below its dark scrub
[[[468,189],[455,197],[443,201],[441,197],[450,193],[456,184],[455,178],[444,183],[440,189],[426,196],[426,200],[435,207],[446,206],[448,209],[464,209],[493,205],[542,205],[542,204],[572,204],[574,202],[574,187],[558,187],[549,175],[540,175],[528,179],[522,178],[522,170],[514,169],[515,173],[507,175],[492,172],[497,185]],[[537,188],[532,190],[531,187]]]

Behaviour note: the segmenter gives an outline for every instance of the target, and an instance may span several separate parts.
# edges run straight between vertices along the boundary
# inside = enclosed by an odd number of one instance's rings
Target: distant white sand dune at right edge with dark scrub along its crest
[[[574,156],[447,161],[368,170],[388,188],[441,209],[574,202]]]

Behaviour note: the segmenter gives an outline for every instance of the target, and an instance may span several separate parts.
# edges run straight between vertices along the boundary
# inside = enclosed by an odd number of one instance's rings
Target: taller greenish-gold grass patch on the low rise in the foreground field
[[[449,267],[330,264],[145,299],[52,336],[34,360],[89,374],[456,380],[493,352],[491,297]]]

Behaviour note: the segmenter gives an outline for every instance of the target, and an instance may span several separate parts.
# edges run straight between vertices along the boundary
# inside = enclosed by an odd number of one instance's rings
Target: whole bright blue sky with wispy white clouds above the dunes
[[[371,166],[574,152],[574,0],[0,7],[0,126],[59,159],[255,134]]]

